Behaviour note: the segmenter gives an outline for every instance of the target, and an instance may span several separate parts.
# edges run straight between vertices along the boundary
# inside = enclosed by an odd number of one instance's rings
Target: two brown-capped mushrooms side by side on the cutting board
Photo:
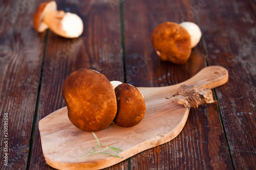
[[[134,86],[110,82],[92,69],[78,69],[64,81],[62,95],[73,125],[84,131],[100,131],[112,122],[133,127],[141,122],[146,106],[142,93]]]

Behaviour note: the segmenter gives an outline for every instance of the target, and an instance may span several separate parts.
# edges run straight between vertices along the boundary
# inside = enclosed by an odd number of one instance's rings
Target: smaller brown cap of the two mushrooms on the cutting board
[[[115,88],[117,113],[114,123],[121,127],[138,125],[146,112],[145,100],[141,92],[130,84],[120,84]]]

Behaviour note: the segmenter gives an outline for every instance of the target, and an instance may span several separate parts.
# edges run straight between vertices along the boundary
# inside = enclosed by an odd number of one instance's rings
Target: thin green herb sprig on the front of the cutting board
[[[108,144],[106,144],[106,142],[103,142],[103,143],[100,144],[97,136],[94,133],[93,133],[93,136],[95,137],[95,139],[97,141],[97,146],[89,154],[87,154],[86,156],[83,156],[81,158],[78,158],[77,160],[83,159],[83,158],[88,157],[88,156],[93,155],[93,154],[106,154],[106,155],[111,155],[111,156],[114,156],[114,157],[117,157],[117,158],[123,158],[123,157],[120,157],[119,153],[117,152],[117,151],[122,151],[121,149],[115,148],[115,147],[109,147]],[[103,150],[100,150],[102,145],[105,145],[105,148]],[[115,154],[105,152],[106,150],[111,150]]]

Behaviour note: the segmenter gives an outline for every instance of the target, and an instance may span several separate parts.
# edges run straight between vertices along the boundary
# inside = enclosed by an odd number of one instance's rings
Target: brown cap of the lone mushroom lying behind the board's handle
[[[190,35],[178,23],[161,23],[152,32],[151,41],[154,50],[163,61],[184,64],[190,57]]]

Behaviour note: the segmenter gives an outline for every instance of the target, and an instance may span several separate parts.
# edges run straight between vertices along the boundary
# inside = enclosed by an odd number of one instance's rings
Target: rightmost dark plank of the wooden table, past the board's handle
[[[225,66],[230,75],[216,92],[236,169],[256,167],[254,12],[246,1],[207,1],[198,13],[209,64]]]

